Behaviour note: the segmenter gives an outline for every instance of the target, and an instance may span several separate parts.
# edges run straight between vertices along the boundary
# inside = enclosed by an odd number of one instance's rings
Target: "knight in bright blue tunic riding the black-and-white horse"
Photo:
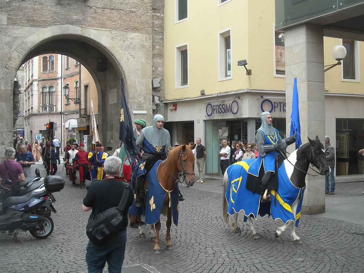
[[[277,185],[270,185],[270,181],[278,167],[277,159],[280,150],[295,142],[296,133],[291,137],[282,139],[278,130],[272,125],[272,114],[270,112],[263,112],[261,120],[262,125],[255,133],[259,156],[248,169],[250,178],[248,177],[246,188],[253,193],[264,194],[262,195],[262,202],[267,202],[270,201],[268,190],[276,190],[277,187]],[[259,177],[261,167],[264,168],[262,170],[264,175]],[[254,177],[258,179],[254,179]]]

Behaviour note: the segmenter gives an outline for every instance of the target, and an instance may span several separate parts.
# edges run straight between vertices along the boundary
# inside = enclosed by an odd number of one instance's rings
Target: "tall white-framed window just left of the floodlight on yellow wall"
[[[232,78],[232,45],[231,28],[218,33],[218,80]]]

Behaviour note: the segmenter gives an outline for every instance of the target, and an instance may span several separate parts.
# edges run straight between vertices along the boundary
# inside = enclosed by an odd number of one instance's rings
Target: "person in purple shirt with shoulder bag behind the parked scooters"
[[[15,149],[12,147],[6,149],[4,156],[6,160],[0,163],[0,177],[2,185],[7,180],[11,180],[13,185],[4,185],[7,190],[3,189],[4,192],[0,194],[1,201],[4,201],[6,198],[12,195],[15,195],[13,194],[13,191],[16,189],[20,190],[19,181],[25,181],[23,168],[18,162],[14,161]],[[15,185],[15,183],[17,183],[17,185]],[[6,207],[2,206],[1,214],[4,214],[5,211]]]

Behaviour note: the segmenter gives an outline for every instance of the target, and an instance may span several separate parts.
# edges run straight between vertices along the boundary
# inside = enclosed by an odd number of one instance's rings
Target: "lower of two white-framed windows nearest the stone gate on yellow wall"
[[[188,44],[176,47],[175,88],[189,87],[188,83]]]

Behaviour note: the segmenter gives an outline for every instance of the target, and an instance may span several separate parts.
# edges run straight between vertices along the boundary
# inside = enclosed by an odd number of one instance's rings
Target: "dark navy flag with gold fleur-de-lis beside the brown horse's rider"
[[[126,155],[130,161],[132,169],[134,170],[135,162],[137,162],[138,159],[141,158],[141,154],[138,149],[137,142],[134,138],[133,122],[131,120],[128,104],[125,98],[123,79],[120,79],[120,83],[122,100],[120,110],[119,139],[124,143]]]

